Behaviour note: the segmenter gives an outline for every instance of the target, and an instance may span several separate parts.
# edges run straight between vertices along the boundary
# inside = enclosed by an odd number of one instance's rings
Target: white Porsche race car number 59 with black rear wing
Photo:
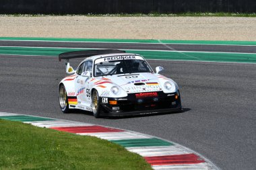
[[[71,58],[85,58],[76,70]],[[59,54],[66,59],[59,83],[59,104],[64,113],[86,110],[100,116],[181,112],[177,83],[156,73],[139,54],[121,50],[86,50]]]

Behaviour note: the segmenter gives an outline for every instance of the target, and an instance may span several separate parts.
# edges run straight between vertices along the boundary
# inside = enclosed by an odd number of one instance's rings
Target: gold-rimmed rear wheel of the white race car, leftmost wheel
[[[59,86],[59,106],[64,114],[69,113],[69,102],[67,100],[67,91],[64,85]]]

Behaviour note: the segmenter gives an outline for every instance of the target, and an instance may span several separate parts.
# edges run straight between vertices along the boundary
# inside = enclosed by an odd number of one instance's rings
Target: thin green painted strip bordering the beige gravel
[[[208,45],[247,45],[256,46],[256,41],[205,41],[205,40],[125,40],[125,39],[92,39],[92,38],[15,38],[0,37],[0,40],[29,41],[69,41],[69,42],[127,42],[127,43],[166,43],[166,44],[208,44]]]

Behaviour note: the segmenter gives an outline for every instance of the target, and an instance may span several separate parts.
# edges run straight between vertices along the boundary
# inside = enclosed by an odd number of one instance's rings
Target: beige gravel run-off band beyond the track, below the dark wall
[[[0,37],[256,41],[256,17],[1,15]]]

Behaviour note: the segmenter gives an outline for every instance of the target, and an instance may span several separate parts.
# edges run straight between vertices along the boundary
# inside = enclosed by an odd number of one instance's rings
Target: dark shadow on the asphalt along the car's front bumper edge
[[[140,117],[160,116],[160,115],[166,115],[166,114],[182,114],[182,113],[188,112],[189,110],[191,109],[183,108],[181,112],[169,112],[169,113],[162,113],[162,114],[141,114],[141,115],[133,115],[133,116],[111,116],[111,117],[102,116],[102,118],[105,118],[105,119],[140,118]]]

